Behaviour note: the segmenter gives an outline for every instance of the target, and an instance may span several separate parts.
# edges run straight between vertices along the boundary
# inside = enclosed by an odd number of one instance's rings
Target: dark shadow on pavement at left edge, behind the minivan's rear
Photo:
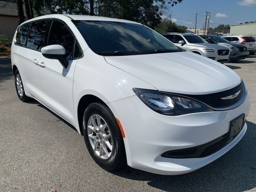
[[[12,78],[13,75],[10,57],[0,58],[0,82]]]

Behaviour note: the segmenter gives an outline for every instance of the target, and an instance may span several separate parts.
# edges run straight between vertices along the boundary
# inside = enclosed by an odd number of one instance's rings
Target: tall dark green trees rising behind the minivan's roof
[[[36,15],[44,8],[58,14],[90,13],[90,2],[93,3],[93,14],[96,16],[120,18],[142,23],[154,28],[161,22],[161,15],[166,5],[175,6],[182,0],[30,0]],[[182,29],[182,27],[180,27]]]

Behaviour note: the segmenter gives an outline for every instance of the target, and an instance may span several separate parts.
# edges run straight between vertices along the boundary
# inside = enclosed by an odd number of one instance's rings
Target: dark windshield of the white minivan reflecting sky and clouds
[[[128,22],[73,20],[90,49],[103,56],[180,52],[162,35]]]

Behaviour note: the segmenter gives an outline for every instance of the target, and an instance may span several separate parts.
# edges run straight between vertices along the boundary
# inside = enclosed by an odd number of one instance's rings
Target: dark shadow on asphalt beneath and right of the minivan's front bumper
[[[246,122],[248,130],[240,142],[211,164],[194,172],[163,176],[125,167],[110,172],[164,191],[242,192],[256,187],[256,124]]]

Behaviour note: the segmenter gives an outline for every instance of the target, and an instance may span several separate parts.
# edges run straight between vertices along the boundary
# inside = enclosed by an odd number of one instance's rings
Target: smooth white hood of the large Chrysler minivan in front
[[[109,64],[164,92],[209,94],[233,88],[241,82],[240,76],[230,68],[192,52],[104,58]]]

